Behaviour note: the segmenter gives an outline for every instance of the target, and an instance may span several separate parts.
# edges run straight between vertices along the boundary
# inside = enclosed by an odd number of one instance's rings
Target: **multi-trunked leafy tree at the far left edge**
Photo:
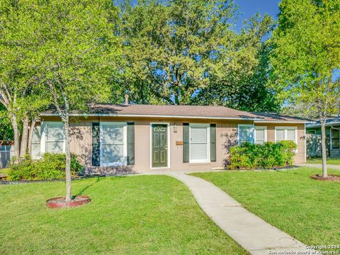
[[[49,104],[32,58],[42,42],[35,36],[39,24],[30,18],[33,13],[28,3],[0,2],[0,103],[5,108],[4,121],[11,123],[8,131],[13,132],[17,158],[30,148],[38,113]]]

